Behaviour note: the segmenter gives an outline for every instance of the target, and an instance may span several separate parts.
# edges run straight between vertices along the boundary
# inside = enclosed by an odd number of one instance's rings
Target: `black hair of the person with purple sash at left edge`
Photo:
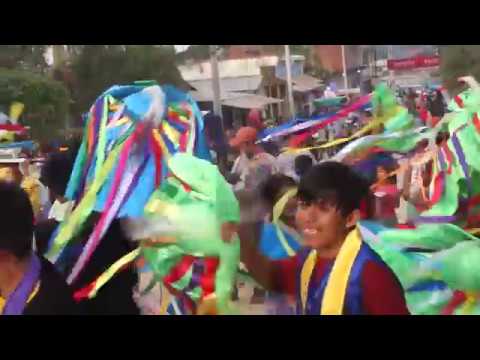
[[[33,209],[19,186],[0,182],[0,250],[23,259],[32,251]]]

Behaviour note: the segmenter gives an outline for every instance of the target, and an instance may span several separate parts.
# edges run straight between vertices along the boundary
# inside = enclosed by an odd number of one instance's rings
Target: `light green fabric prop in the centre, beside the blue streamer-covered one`
[[[231,311],[229,299],[240,261],[240,243],[235,235],[224,242],[221,226],[240,221],[239,204],[231,187],[211,163],[189,154],[176,154],[168,167],[168,177],[146,206],[146,216],[162,218],[173,229],[168,235],[174,245],[144,247],[143,255],[158,281],[166,276],[183,255],[218,257],[215,295],[220,313]],[[186,189],[185,184],[191,188]],[[152,234],[154,237],[155,234]],[[196,294],[194,300],[201,300]]]

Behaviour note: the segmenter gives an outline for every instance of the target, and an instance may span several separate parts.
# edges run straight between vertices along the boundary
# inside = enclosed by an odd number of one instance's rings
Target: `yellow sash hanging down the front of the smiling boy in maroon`
[[[358,229],[355,228],[347,235],[333,264],[322,299],[321,315],[342,315],[350,272],[361,246],[362,240]],[[308,287],[316,261],[317,251],[312,250],[308,254],[300,275],[300,299],[304,312],[306,310]]]

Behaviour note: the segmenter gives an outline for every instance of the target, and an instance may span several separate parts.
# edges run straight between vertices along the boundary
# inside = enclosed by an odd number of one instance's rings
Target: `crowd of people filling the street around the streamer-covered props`
[[[410,91],[404,105],[429,127],[445,115],[439,90],[428,96]],[[349,137],[371,117],[370,111],[358,112],[335,137]],[[205,118],[207,142],[240,209],[240,221],[230,224],[225,241],[238,235],[241,264],[256,284],[252,303],[265,304],[269,314],[410,313],[401,282],[362,241],[357,223],[374,219],[388,227],[410,226],[428,209],[432,154],[448,141],[448,133],[437,135],[435,149],[420,142],[408,162],[381,149],[370,152],[368,160],[356,156],[338,162],[334,156],[346,144],[321,148],[328,135],[310,139],[302,151],[284,151],[295,133],[262,142],[265,128],[258,111],[230,136],[209,125],[215,121],[216,116]],[[0,311],[167,313],[159,295],[166,291],[163,286],[153,305],[138,301],[142,266],[136,262],[95,297],[84,296],[92,280],[134,249],[118,219],[108,226],[81,275],[67,284],[66,269],[73,267],[101,221],[101,211],[92,212],[74,246],[62,255],[64,268],[46,260],[59,225],[78,205],[65,196],[77,152],[78,146],[72,145],[38,162],[19,154],[0,159]],[[235,287],[232,300],[237,298]]]

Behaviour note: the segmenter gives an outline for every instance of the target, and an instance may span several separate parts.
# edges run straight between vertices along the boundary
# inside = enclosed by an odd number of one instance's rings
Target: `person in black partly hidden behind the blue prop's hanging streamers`
[[[74,158],[66,153],[50,156],[42,171],[42,182],[55,195],[64,194],[69,179],[68,174],[73,167]],[[67,176],[64,176],[66,173]],[[63,175],[62,175],[63,174]],[[100,213],[94,212],[87,219],[80,233],[67,246],[62,261],[55,264],[66,278],[73,268],[80,252],[93,232]],[[38,252],[45,254],[52,234],[58,228],[57,219],[48,219],[35,226],[35,240]],[[114,220],[108,228],[92,257],[79,277],[70,286],[74,294],[83,293],[99,275],[107,270],[115,261],[132,250],[120,222]],[[60,265],[61,264],[61,265]],[[87,315],[137,315],[139,309],[133,300],[133,287],[137,283],[137,275],[133,266],[123,269],[115,275],[93,299],[75,296],[82,312]]]

